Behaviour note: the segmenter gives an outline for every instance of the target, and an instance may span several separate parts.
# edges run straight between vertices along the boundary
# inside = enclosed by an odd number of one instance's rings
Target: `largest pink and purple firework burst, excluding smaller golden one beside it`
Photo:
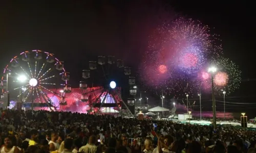
[[[143,56],[143,85],[191,95],[199,84],[191,78],[202,70],[208,57],[221,52],[215,40],[207,26],[192,19],[181,17],[158,26],[149,37],[148,51]]]

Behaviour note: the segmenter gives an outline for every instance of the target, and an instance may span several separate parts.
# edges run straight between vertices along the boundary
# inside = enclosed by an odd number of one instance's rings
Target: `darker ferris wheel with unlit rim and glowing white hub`
[[[126,80],[126,81],[125,81]],[[129,81],[128,81],[129,80]],[[131,106],[124,102],[121,90],[131,88],[135,77],[131,76],[131,68],[124,67],[123,60],[115,60],[114,56],[98,56],[89,61],[88,69],[82,71],[80,89],[83,92],[82,102],[90,106],[89,113],[120,113],[122,108],[133,116]],[[93,90],[87,90],[91,86]],[[127,91],[129,93],[129,90]]]

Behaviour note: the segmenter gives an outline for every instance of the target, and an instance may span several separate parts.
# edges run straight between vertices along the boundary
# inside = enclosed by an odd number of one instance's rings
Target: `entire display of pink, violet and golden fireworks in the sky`
[[[143,85],[193,95],[199,86],[211,86],[211,74],[203,70],[207,70],[209,59],[215,59],[212,64],[218,68],[213,76],[216,93],[225,90],[229,94],[239,87],[241,72],[237,65],[220,57],[218,37],[200,21],[178,18],[159,26],[149,39],[141,64]]]

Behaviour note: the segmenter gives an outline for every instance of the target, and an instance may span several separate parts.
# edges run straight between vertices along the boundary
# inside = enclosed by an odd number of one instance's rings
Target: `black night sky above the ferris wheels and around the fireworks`
[[[56,2],[0,2],[2,68],[20,52],[39,49],[65,61],[73,86],[78,86],[81,70],[88,67],[88,60],[99,55],[114,55],[137,71],[141,56],[147,50],[148,33],[164,19],[172,18],[175,11],[201,20],[212,32],[221,35],[225,57],[240,66],[242,79],[246,80],[240,90],[227,99],[254,102],[256,83],[247,81],[256,78],[253,5],[245,1]]]

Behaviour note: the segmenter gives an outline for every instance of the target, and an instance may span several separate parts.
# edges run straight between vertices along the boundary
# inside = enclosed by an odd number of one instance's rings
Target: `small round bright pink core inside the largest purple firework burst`
[[[181,57],[181,65],[183,68],[193,68],[197,65],[198,58],[193,53],[185,53]]]

